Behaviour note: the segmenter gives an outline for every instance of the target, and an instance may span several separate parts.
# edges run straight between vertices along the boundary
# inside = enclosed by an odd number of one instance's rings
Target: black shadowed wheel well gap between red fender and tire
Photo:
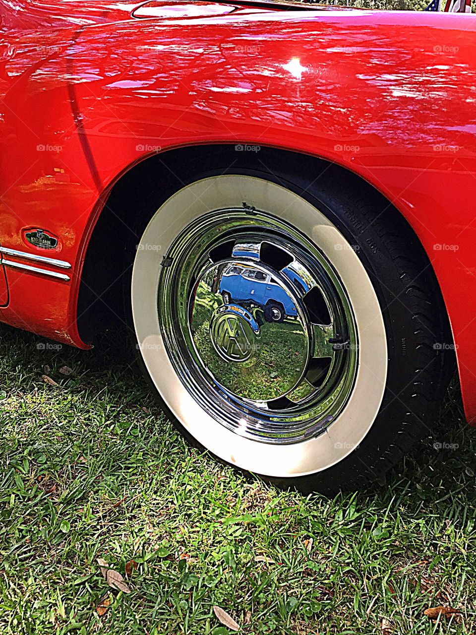
[[[380,199],[388,213],[397,213],[392,204],[363,178],[336,164],[307,154],[262,146],[259,156],[237,152],[234,145],[196,145],[155,154],[136,164],[112,187],[89,241],[79,288],[77,324],[84,342],[94,342],[98,333],[126,324],[124,285],[129,284],[136,244],[145,224],[159,205],[190,180],[239,169],[246,174],[270,173],[277,183],[279,173],[292,166],[303,184],[319,183],[319,175],[345,180]],[[197,175],[197,166],[202,173]],[[305,189],[305,185],[303,187]],[[407,224],[416,242],[418,237]],[[423,247],[421,246],[421,250]],[[429,261],[428,261],[429,262]],[[430,265],[431,266],[431,265]],[[284,307],[283,307],[284,308]]]

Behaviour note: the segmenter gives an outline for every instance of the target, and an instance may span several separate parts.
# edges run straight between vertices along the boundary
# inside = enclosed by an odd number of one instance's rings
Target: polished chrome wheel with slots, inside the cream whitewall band
[[[162,265],[157,298],[175,370],[215,420],[263,443],[317,436],[352,393],[359,351],[326,257],[264,212],[210,212]]]

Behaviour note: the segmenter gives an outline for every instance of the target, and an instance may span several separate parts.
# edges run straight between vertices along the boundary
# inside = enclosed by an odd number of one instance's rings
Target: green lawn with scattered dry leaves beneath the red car
[[[122,349],[40,342],[0,330],[2,634],[231,632],[213,605],[249,635],[474,632],[476,431],[456,389],[418,463],[305,498],[188,448]],[[97,558],[137,563],[103,617]],[[462,616],[433,624],[437,605]]]

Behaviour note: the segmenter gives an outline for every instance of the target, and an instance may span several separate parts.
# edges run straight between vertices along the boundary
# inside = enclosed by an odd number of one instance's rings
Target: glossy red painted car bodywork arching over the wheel
[[[85,347],[81,267],[122,173],[183,145],[286,148],[360,175],[412,225],[476,422],[476,18],[147,4],[0,3],[0,244],[25,251],[42,227],[72,265],[69,282],[8,269],[0,319]]]

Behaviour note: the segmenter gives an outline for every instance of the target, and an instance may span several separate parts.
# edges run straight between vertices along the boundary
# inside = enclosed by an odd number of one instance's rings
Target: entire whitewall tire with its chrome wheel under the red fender
[[[192,443],[333,493],[380,478],[428,435],[446,314],[396,211],[341,183],[279,183],[212,175],[164,201],[140,239],[156,249],[136,250],[133,325],[145,375]],[[260,325],[217,303],[212,281],[230,264],[269,275],[296,320]]]

